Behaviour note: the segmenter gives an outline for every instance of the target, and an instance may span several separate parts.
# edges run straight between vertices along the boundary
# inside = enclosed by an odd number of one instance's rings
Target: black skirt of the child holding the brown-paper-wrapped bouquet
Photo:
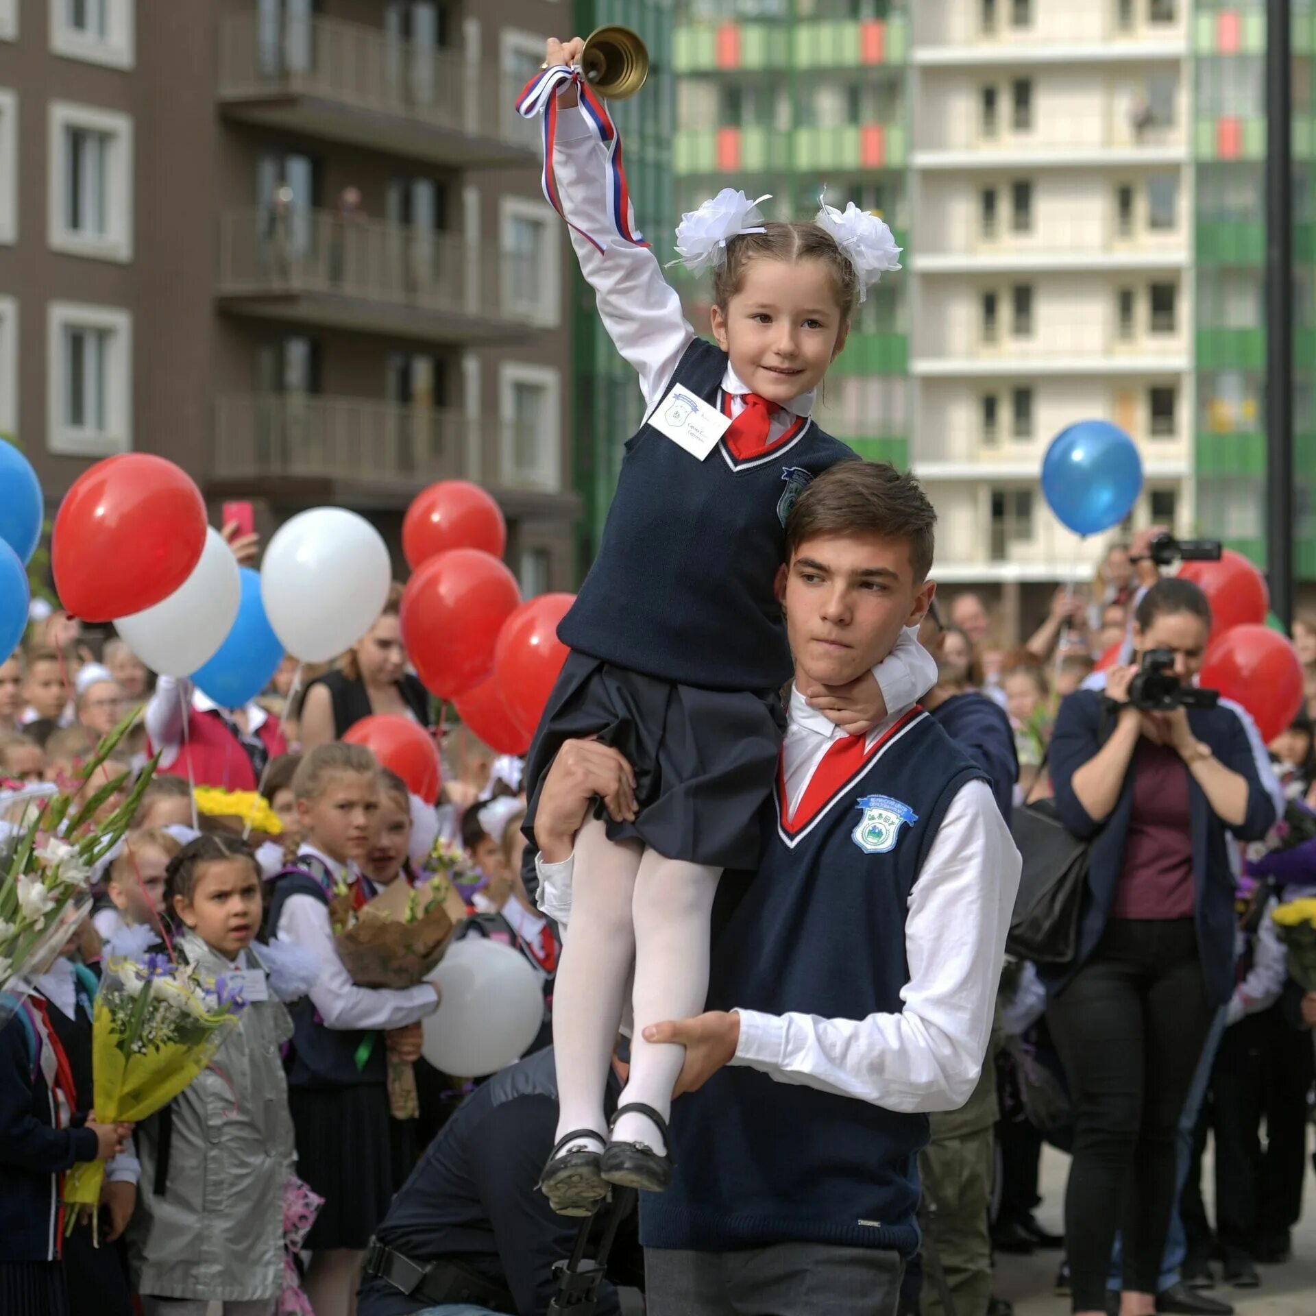
[[[297,1178],[325,1199],[307,1250],[365,1248],[393,1194],[384,1084],[290,1087],[288,1109]]]

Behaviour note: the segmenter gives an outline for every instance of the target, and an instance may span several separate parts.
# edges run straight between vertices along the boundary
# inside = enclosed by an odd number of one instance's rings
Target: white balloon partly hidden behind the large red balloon
[[[208,528],[192,574],[154,607],[118,617],[114,629],[153,671],[190,676],[228,638],[241,600],[237,558],[218,530]]]

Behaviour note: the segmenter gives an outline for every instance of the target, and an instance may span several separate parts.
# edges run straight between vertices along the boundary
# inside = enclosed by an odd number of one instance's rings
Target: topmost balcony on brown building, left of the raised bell
[[[255,13],[220,22],[220,108],[286,133],[458,168],[524,166],[538,132],[488,63],[336,18]]]

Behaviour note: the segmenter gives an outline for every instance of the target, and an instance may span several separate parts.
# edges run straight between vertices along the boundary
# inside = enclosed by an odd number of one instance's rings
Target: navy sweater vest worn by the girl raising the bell
[[[726,353],[696,338],[671,383],[716,408],[725,374]],[[776,690],[791,675],[772,594],[786,513],[815,475],[854,455],[812,421],[746,462],[725,443],[699,461],[641,425],[626,441],[599,555],[558,637],[674,684]]]

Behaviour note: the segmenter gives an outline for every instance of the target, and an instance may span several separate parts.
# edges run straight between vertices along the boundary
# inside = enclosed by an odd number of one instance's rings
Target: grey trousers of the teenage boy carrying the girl
[[[746,1252],[645,1249],[649,1316],[895,1316],[894,1252],[782,1242]]]

